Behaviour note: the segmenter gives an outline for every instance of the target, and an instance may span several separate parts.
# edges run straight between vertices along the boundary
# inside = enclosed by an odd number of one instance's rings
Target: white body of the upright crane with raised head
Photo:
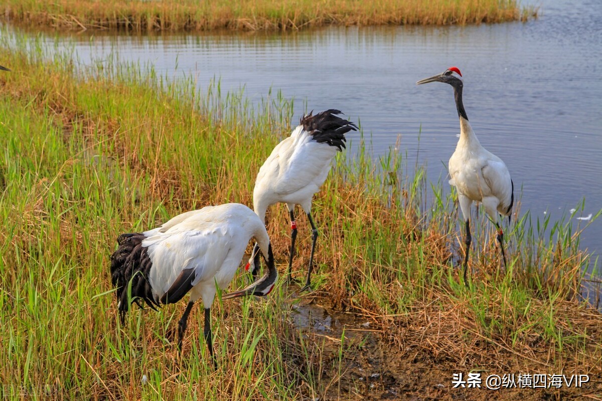
[[[506,164],[480,144],[464,117],[460,117],[460,139],[448,168],[449,183],[458,189],[465,221],[470,218],[473,201],[483,203],[494,222],[498,222],[498,213],[510,215],[512,181]]]

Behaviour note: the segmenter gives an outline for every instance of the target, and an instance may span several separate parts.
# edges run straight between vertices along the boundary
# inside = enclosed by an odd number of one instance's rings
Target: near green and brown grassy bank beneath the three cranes
[[[273,94],[253,108],[242,94],[220,93],[219,85],[199,94],[193,79],[170,83],[138,66],[76,71],[68,58],[43,61],[37,46],[31,53],[1,48],[0,64],[13,70],[0,74],[3,394],[228,400],[602,394],[602,316],[579,298],[589,259],[579,251],[578,233],[549,221],[530,226],[528,211],[521,211],[507,232],[503,272],[490,226],[474,224],[477,252],[466,289],[453,267],[461,255],[455,198],[425,183],[421,169],[408,168],[399,154],[373,161],[362,146],[357,155],[339,155],[315,200],[318,290],[299,298],[298,287],[281,280],[265,299],[216,302],[216,372],[200,335],[199,307],[189,319],[183,358],[173,340],[184,304],[160,313],[135,310],[121,326],[108,268],[117,234],[207,204],[252,204],[259,166],[290,132],[291,104]],[[355,111],[346,112],[356,120]],[[427,191],[435,194],[433,204],[426,203]],[[285,207],[273,207],[268,233],[281,272],[286,222]],[[309,257],[309,224],[302,216],[298,224],[297,277]],[[232,287],[246,282],[240,274]],[[345,316],[350,326],[329,332],[300,321],[310,302]],[[591,381],[582,389],[451,388],[452,373],[470,371],[589,374]]]

